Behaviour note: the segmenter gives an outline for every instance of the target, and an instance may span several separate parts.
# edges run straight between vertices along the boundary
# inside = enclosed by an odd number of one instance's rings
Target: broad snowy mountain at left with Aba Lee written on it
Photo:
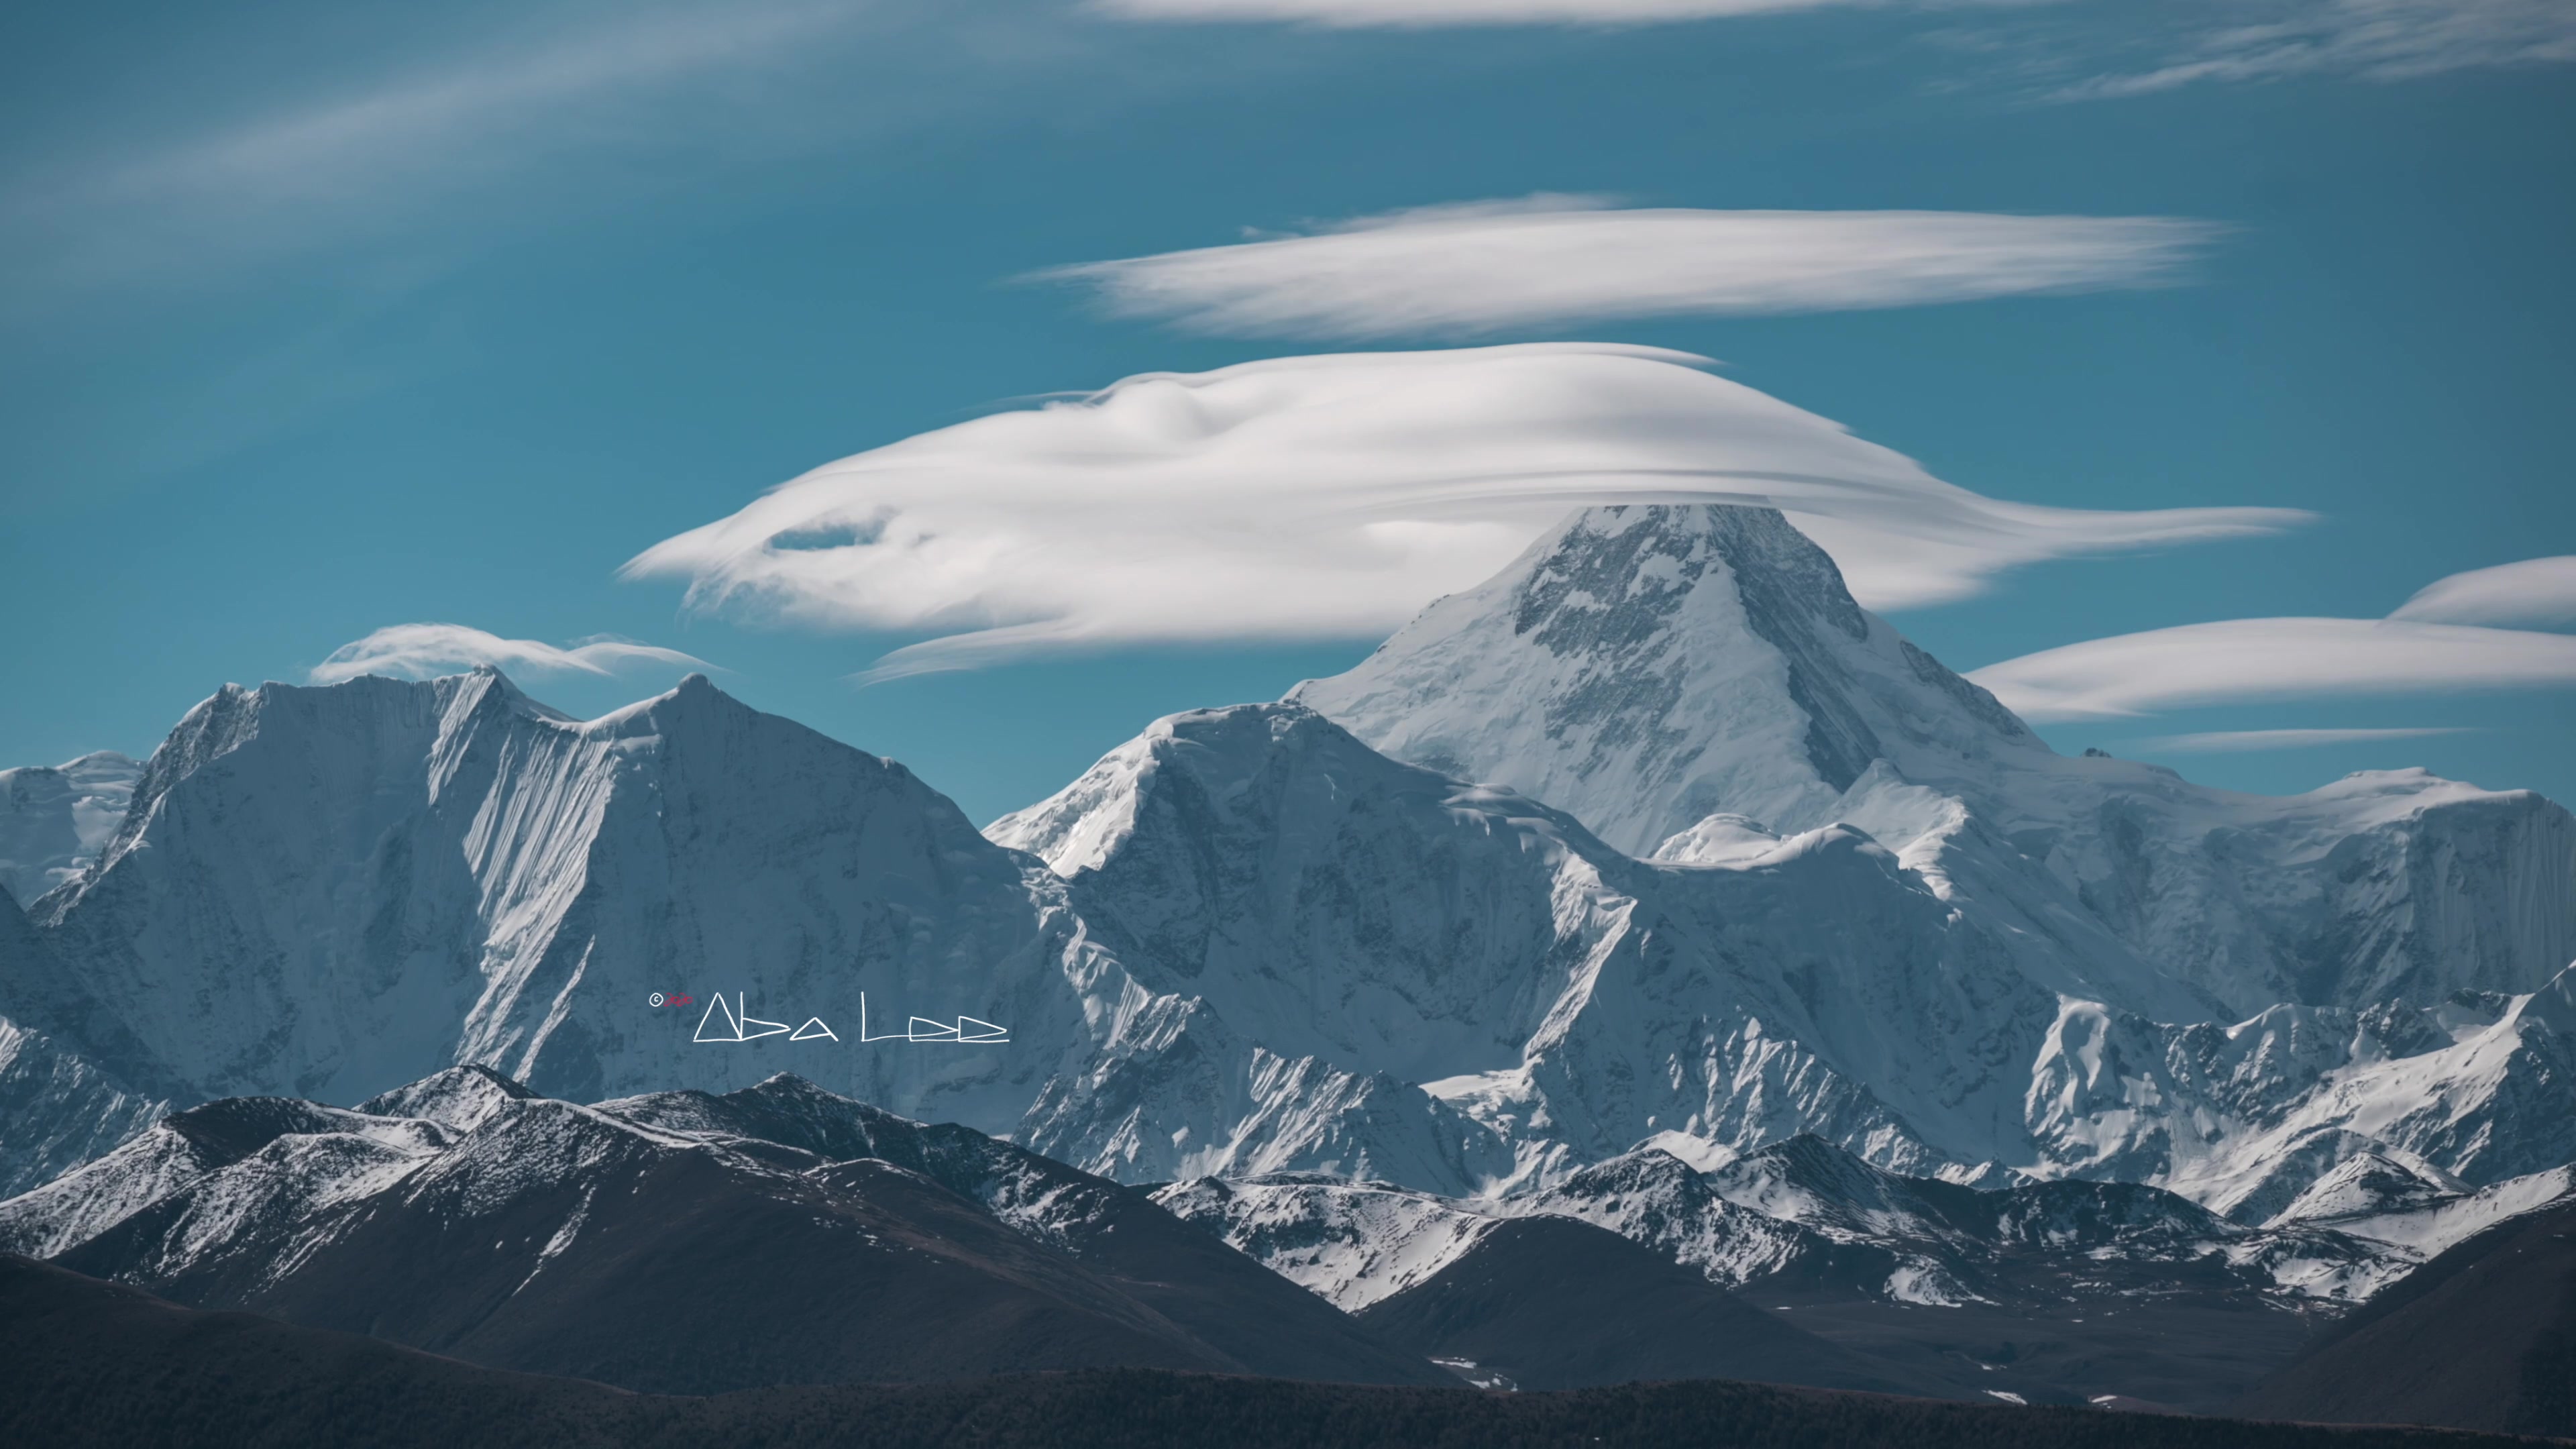
[[[1010,1129],[1118,975],[945,797],[703,678],[592,722],[489,670],[227,688],[44,933],[64,972],[23,982],[31,1006],[185,1098],[355,1101],[451,1062],[732,1088],[796,1062]],[[863,990],[876,1024],[963,1013],[1046,1047],[842,1052]],[[719,995],[840,1042],[701,1042]]]

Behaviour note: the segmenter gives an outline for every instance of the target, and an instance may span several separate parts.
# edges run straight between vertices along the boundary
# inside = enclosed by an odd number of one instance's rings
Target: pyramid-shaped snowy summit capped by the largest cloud
[[[1780,511],[1716,503],[1587,508],[1291,699],[1633,853],[1721,810],[1832,822],[1875,761],[1953,779],[2048,753],[1860,608]]]

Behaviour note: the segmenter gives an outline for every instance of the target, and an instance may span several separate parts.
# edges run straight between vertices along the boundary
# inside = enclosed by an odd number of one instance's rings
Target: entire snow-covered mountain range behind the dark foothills
[[[703,678],[577,722],[482,670],[227,688],[95,851],[0,910],[0,1191],[167,1106],[451,1062],[793,1067],[1123,1181],[1443,1196],[1808,1132],[2259,1227],[2365,1155],[2442,1191],[2576,1158],[2561,807],[2061,758],[1754,508],[1579,513],[984,833]],[[1010,1042],[711,1047],[670,990]]]

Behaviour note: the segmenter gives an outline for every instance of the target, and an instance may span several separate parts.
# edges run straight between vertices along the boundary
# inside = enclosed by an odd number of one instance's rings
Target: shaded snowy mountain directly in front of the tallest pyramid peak
[[[1399,766],[1298,704],[1247,704],[1162,719],[989,833],[1064,871],[1141,980],[1193,998],[1190,1029],[1221,1021],[1265,1055],[1376,1070],[1383,1096],[1414,1104],[1340,1155],[1291,1114],[1260,1142],[1193,1132],[1188,1152],[1139,1132],[1128,1176],[1334,1171],[1473,1191],[1662,1129],[1726,1145],[1824,1132],[1922,1171],[2030,1158],[2022,1062],[2063,954],[1986,931],[1855,830],[1716,866],[1643,864],[1543,804]],[[2141,962],[2120,969],[2143,995],[2169,987]],[[1242,1091],[1154,1080],[1121,1101],[1170,1122]],[[1231,1104],[1213,1116],[1273,1122]],[[1028,1142],[1103,1155],[1043,1104]]]

